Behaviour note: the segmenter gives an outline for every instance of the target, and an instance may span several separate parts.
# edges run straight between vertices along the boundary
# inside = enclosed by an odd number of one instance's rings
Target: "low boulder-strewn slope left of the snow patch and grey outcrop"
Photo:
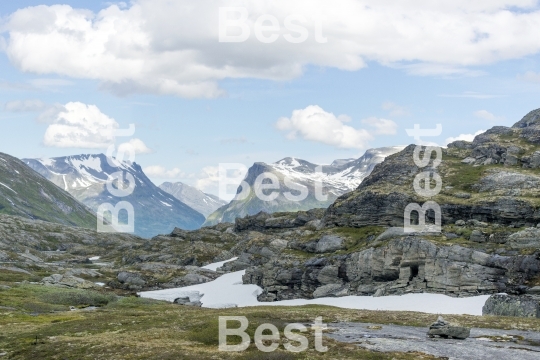
[[[220,231],[207,229],[188,240],[182,232],[149,240],[0,215],[0,275],[73,288],[107,286],[128,293],[198,284],[219,276],[200,266],[230,258],[227,249],[236,237],[218,238]]]

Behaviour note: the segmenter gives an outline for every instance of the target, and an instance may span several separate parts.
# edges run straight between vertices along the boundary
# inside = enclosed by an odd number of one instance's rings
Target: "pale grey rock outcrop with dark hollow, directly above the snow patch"
[[[490,255],[404,236],[347,255],[304,262],[272,258],[247,268],[243,281],[264,289],[261,301],[411,292],[472,296],[519,293],[520,286],[539,272],[536,256]]]

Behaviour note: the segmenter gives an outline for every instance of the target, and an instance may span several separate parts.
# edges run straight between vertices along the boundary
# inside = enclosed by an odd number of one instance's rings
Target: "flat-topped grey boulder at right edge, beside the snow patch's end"
[[[482,315],[540,317],[540,298],[528,295],[495,294],[487,299]]]

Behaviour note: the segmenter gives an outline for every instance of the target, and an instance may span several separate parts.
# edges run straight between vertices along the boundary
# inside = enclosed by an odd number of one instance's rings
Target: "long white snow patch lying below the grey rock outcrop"
[[[222,261],[205,266],[215,270],[222,266]],[[468,314],[482,315],[482,306],[489,295],[468,298],[453,298],[441,294],[408,294],[402,296],[345,296],[340,298],[319,298],[313,300],[296,299],[276,302],[259,302],[257,295],[262,289],[257,285],[243,285],[242,275],[245,271],[225,274],[205,284],[182,288],[144,291],[141,297],[174,301],[179,297],[189,297],[190,301],[201,301],[206,308],[229,308],[247,306],[300,306],[330,305],[346,309],[417,311],[430,314]]]

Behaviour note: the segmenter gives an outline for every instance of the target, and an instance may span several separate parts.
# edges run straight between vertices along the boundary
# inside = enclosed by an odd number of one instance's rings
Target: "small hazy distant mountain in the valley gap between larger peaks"
[[[159,185],[159,188],[171,194],[189,207],[197,210],[204,216],[210,215],[223,205],[227,204],[227,201],[220,200],[215,195],[206,194],[199,189],[181,182],[164,182]]]

